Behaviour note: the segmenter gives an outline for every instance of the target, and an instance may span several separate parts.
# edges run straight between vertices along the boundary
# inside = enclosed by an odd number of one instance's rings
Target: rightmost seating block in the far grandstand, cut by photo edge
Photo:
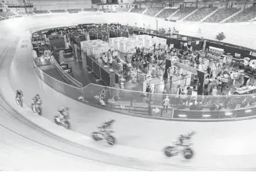
[[[239,14],[232,16],[228,19],[227,23],[235,23],[235,22],[246,22],[256,17],[256,6],[251,6],[247,9],[244,9]]]

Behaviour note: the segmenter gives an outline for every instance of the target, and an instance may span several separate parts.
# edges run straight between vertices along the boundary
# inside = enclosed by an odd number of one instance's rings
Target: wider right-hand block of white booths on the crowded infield
[[[153,45],[157,46],[161,44],[162,46],[167,46],[167,40],[158,38],[157,36],[149,36],[149,35],[138,35],[131,36],[129,38],[118,37],[109,39],[109,46],[113,49],[121,51],[122,53],[128,53],[135,47],[145,47],[147,49],[153,49]]]

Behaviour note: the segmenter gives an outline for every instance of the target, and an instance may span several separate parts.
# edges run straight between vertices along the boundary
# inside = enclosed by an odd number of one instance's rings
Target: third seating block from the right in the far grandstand
[[[217,6],[212,7],[202,7],[201,9],[198,9],[195,11],[195,13],[191,14],[191,16],[188,16],[187,19],[184,19],[185,21],[200,21],[205,18],[205,16],[211,14],[213,11],[217,9]]]

